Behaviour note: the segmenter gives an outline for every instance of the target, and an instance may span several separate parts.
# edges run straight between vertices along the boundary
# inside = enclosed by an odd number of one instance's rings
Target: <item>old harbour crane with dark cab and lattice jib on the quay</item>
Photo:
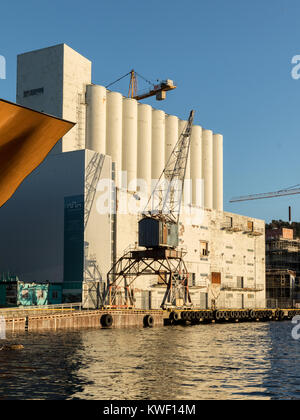
[[[191,307],[186,252],[178,249],[178,223],[194,111],[181,133],[139,221],[139,249],[127,249],[107,274],[108,306],[134,307],[134,281],[158,277],[166,291],[163,309]],[[150,209],[149,209],[150,205]],[[144,249],[142,249],[144,248]]]

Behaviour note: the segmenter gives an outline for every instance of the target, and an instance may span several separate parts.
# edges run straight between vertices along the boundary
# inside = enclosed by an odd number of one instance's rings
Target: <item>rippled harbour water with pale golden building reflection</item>
[[[244,323],[86,330],[11,338],[1,399],[296,399],[292,325]]]

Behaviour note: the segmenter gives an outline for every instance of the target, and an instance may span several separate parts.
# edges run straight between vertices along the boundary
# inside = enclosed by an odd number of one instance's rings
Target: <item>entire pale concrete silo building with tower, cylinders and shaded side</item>
[[[84,280],[105,282],[136,246],[132,209],[143,210],[186,124],[93,84],[91,72],[65,44],[18,56],[17,102],[77,125],[0,209],[0,272],[61,282],[65,301],[81,299]],[[194,305],[263,307],[264,222],[223,211],[221,134],[193,127],[186,178],[179,237]],[[158,308],[164,289],[140,278],[135,292],[138,307]]]

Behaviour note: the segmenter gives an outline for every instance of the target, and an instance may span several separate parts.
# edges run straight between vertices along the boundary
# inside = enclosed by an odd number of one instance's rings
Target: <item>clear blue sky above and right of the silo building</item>
[[[299,22],[299,0],[5,1],[0,97],[15,100],[17,54],[62,42],[93,61],[94,83],[131,68],[174,79],[166,101],[148,103],[181,118],[193,108],[197,124],[224,135],[225,210],[286,220],[291,205],[300,221],[300,195],[229,203],[300,183]]]

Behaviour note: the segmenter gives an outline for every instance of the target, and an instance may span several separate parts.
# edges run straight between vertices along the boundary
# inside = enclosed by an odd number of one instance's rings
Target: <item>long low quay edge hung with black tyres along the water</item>
[[[81,328],[162,327],[164,325],[196,325],[228,322],[268,322],[291,320],[299,309],[237,310],[137,310],[103,309],[54,314],[30,314],[22,317],[7,314],[6,331],[56,331]]]

